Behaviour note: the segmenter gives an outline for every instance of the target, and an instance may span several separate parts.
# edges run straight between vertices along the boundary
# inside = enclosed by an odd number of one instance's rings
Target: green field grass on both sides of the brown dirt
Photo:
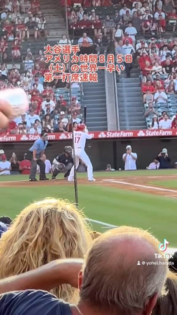
[[[95,177],[107,176],[137,176],[137,175],[174,175],[175,170],[162,171],[134,171],[134,172],[98,172]],[[79,177],[86,178],[86,174],[79,174]],[[60,176],[61,177],[61,176]],[[59,177],[59,178],[60,178]],[[5,180],[26,180],[27,176],[13,175],[1,176],[0,181]],[[63,175],[62,175],[63,178]],[[175,185],[176,180],[158,181],[158,185]],[[155,185],[157,181],[152,183]],[[165,184],[164,184],[165,183]],[[176,186],[170,186],[176,187]],[[25,206],[34,200],[45,197],[67,198],[74,202],[74,188],[71,185],[31,186],[27,187],[0,187],[1,203],[0,215],[15,217]],[[177,246],[176,241],[176,219],[177,201],[162,196],[125,191],[112,187],[96,186],[92,183],[78,185],[79,207],[84,208],[85,214],[92,220],[97,220],[116,226],[132,225],[144,229],[151,228],[151,231],[163,241],[164,238],[170,242],[170,247]],[[105,225],[93,223],[93,228],[98,231],[105,231]]]

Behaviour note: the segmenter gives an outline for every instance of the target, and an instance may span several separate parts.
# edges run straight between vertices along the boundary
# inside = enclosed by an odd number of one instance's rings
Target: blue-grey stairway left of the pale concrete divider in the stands
[[[98,70],[97,83],[83,83],[83,107],[87,106],[86,125],[89,131],[107,130],[105,74]]]

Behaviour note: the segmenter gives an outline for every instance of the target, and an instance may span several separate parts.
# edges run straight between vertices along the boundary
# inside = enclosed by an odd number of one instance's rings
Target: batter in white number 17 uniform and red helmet
[[[87,174],[89,181],[95,181],[93,178],[93,166],[92,163],[85,152],[85,143],[86,139],[92,139],[92,135],[89,135],[86,131],[86,126],[82,123],[77,126],[77,129],[74,130],[74,149],[76,157],[76,169],[79,166],[79,159],[87,166]],[[74,180],[74,165],[71,169],[70,175],[68,176],[68,181]]]

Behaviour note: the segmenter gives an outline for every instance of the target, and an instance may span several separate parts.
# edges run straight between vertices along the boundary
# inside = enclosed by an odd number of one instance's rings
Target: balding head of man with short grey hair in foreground
[[[155,258],[158,244],[137,228],[124,226],[104,233],[86,257],[81,299],[111,314],[148,314],[146,305],[160,295],[168,268],[157,265],[165,262]]]

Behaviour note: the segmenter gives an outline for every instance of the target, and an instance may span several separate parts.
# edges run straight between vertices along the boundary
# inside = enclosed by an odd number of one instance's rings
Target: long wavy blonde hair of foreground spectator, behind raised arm
[[[21,211],[0,241],[0,279],[60,258],[82,258],[91,229],[83,211],[62,199],[46,198]],[[51,292],[75,302],[78,290],[63,284]]]

